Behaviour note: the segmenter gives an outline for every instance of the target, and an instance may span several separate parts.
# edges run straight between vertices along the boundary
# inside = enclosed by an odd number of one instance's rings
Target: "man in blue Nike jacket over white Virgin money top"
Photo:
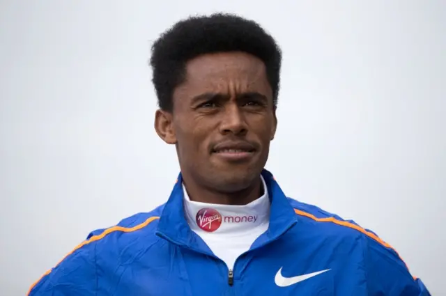
[[[264,169],[280,64],[233,15],[164,33],[151,65],[155,130],[180,163],[171,196],[93,231],[29,295],[429,295],[376,234],[287,198]]]

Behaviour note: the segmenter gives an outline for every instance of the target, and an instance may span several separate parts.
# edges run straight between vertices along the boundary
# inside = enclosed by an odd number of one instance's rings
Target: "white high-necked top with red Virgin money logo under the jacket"
[[[263,177],[261,180],[265,194],[247,205],[191,201],[183,185],[187,223],[229,269],[233,268],[238,256],[248,251],[254,240],[268,229],[270,198]]]

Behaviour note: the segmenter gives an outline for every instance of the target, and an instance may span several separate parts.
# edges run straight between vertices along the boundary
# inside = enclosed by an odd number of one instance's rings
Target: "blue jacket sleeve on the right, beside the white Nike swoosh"
[[[421,279],[412,276],[397,251],[385,242],[364,237],[365,269],[370,295],[431,296]]]

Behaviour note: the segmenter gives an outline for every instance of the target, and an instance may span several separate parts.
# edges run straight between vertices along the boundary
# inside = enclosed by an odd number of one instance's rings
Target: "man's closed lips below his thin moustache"
[[[217,144],[212,153],[226,161],[240,162],[250,159],[256,153],[256,148],[248,142],[224,142]]]

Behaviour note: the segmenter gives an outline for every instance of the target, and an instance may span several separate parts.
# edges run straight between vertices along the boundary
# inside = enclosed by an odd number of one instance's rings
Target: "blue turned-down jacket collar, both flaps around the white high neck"
[[[254,242],[252,248],[259,247],[261,244],[263,245],[277,239],[277,237],[284,234],[291,226],[298,222],[298,217],[295,215],[293,207],[275,181],[272,173],[263,169],[261,174],[266,182],[270,196],[270,224],[266,233]],[[206,244],[187,224],[183,207],[184,196],[182,184],[183,178],[180,173],[169,200],[162,210],[157,226],[157,235],[183,247],[211,253]]]

